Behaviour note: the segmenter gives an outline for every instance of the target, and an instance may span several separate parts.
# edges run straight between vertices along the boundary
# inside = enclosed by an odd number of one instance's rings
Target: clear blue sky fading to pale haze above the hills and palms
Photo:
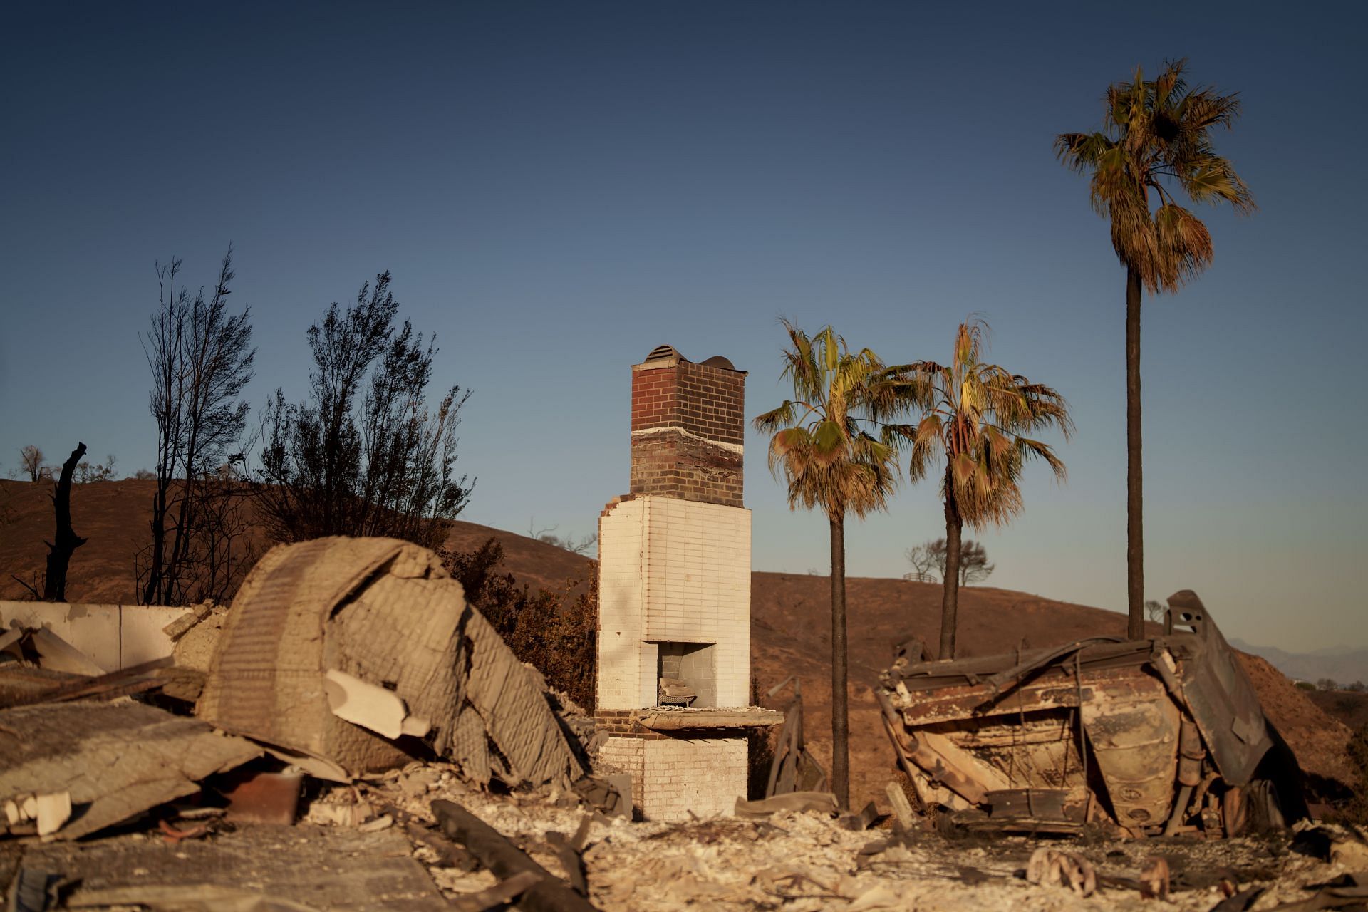
[[[1144,316],[1146,595],[1227,634],[1368,643],[1361,4],[11,4],[0,14],[0,465],[83,440],[153,462],[138,343],[156,260],[237,247],[254,405],[300,398],[305,330],[390,269],[475,391],[462,518],[594,529],[627,488],[628,365],[659,343],[784,398],[784,314],[888,361],[990,357],[1060,390],[1070,480],[982,535],[990,582],[1124,608],[1123,284],[1056,133],[1190,57],[1238,90],[1218,137],[1260,211]],[[1350,104],[1353,101],[1353,104]],[[1354,403],[1358,405],[1354,405]],[[825,573],[747,439],[758,570]],[[79,524],[78,524],[79,528]],[[848,529],[897,576],[932,484]],[[858,606],[852,622],[858,623]],[[934,632],[930,632],[933,636]]]

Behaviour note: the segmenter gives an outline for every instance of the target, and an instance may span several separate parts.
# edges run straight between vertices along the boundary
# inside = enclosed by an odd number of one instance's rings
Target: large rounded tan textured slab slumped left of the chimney
[[[317,539],[261,558],[196,712],[350,777],[409,762],[420,745],[408,737],[480,783],[568,788],[584,773],[542,675],[434,552],[395,539]]]

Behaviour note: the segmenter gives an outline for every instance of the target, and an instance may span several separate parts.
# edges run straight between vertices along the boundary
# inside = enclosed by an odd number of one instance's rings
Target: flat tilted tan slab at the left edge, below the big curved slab
[[[53,831],[77,840],[192,794],[260,756],[204,722],[138,703],[55,703],[0,711],[0,801],[70,793]]]

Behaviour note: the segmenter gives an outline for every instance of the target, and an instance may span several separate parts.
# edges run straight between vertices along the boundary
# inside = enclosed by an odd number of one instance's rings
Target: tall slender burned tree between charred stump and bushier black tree
[[[146,604],[187,600],[193,540],[204,515],[205,485],[239,461],[248,403],[238,395],[252,379],[254,349],[249,308],[227,312],[233,247],[223,256],[213,293],[176,286],[181,260],[157,264],[159,299],[144,351],[152,369],[150,410],[157,423],[152,540],[137,562]]]

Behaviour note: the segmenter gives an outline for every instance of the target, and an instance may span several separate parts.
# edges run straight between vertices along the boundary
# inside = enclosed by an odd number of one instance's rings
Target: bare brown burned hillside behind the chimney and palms
[[[11,574],[41,574],[52,536],[48,484],[0,480],[0,598],[25,598]],[[114,481],[73,489],[73,525],[89,543],[71,563],[73,602],[129,602],[133,555],[146,540],[152,484]],[[584,578],[591,562],[525,536],[471,522],[453,525],[449,547],[469,550],[490,536],[505,548],[505,567],[534,588],[560,588]],[[754,573],[751,587],[752,673],[762,688],[791,674],[803,682],[807,733],[814,752],[829,759],[830,649],[826,577]],[[914,633],[928,641],[938,634],[940,588],[928,582],[863,578],[848,581],[851,659],[852,799],[882,792],[892,775],[892,753],[878,721],[870,686],[889,659],[891,644]],[[1211,606],[1216,622],[1222,606]],[[1124,633],[1124,619],[1111,611],[1052,602],[1023,592],[970,587],[960,596],[960,643],[966,655],[988,655],[1018,645],[1044,647],[1099,633]],[[1306,693],[1263,659],[1244,656],[1264,708],[1297,751],[1308,771],[1346,779],[1343,748],[1349,730],[1326,715]],[[778,706],[778,701],[772,701]]]

